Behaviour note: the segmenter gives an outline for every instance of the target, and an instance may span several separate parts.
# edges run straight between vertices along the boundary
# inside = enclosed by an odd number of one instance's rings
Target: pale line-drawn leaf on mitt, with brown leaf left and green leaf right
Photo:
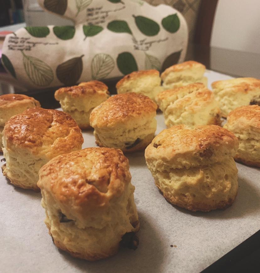
[[[104,53],[94,56],[91,61],[91,75],[93,80],[101,80],[106,78],[115,67],[113,58]]]

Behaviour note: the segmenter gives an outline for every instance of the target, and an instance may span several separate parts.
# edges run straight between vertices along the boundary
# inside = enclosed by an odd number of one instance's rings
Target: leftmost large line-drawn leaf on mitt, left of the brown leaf
[[[25,55],[23,51],[24,70],[30,80],[39,86],[47,86],[53,81],[53,71],[51,67],[42,60],[33,56]]]

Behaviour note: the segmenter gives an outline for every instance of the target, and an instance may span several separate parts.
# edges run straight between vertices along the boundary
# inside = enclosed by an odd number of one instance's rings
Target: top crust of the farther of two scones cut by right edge
[[[260,80],[256,78],[236,78],[216,81],[211,86],[216,92],[226,89],[227,91],[248,93],[254,91],[256,88],[260,88]]]

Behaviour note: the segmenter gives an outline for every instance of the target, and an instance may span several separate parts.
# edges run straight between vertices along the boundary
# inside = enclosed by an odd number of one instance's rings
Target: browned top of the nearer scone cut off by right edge
[[[227,116],[225,128],[238,134],[240,138],[260,140],[260,106],[246,105],[237,107]]]

